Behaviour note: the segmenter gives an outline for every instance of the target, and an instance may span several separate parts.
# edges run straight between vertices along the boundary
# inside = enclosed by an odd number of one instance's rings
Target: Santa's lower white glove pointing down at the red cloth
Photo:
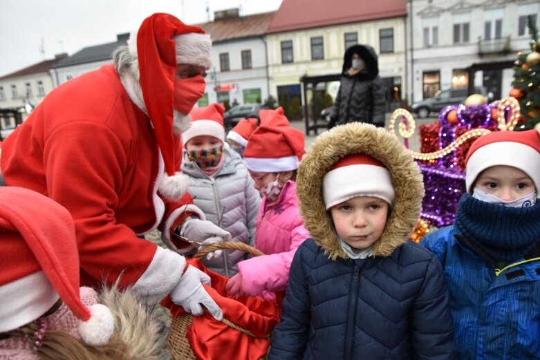
[[[205,305],[214,319],[221,321],[223,312],[212,296],[206,292],[203,283],[210,285],[210,276],[189,265],[171,291],[171,300],[193,316],[201,316],[204,312],[201,305]]]

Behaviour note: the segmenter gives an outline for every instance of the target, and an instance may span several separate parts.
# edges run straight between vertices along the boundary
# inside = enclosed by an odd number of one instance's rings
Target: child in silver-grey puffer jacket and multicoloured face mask
[[[189,193],[207,220],[225,230],[224,238],[253,245],[255,222],[261,204],[259,193],[238,153],[224,146],[225,129],[220,104],[194,108],[191,127],[182,134],[185,147],[182,171],[189,176]],[[230,233],[230,235],[228,235]],[[228,236],[227,236],[228,235]],[[212,243],[207,239],[203,243]],[[227,277],[238,272],[236,263],[245,252],[217,250],[203,263]]]

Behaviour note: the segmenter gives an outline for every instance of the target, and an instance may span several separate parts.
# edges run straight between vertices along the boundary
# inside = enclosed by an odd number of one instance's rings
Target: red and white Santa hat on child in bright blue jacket
[[[478,175],[488,167],[505,165],[526,173],[540,196],[540,133],[529,131],[496,131],[472,143],[465,166],[467,192],[473,192]]]

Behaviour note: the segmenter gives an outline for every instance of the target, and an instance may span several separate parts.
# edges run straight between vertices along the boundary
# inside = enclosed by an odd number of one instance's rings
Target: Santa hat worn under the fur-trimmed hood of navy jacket
[[[392,176],[379,160],[352,154],[338,160],[322,180],[326,210],[356,196],[380,198],[390,206],[395,200]]]

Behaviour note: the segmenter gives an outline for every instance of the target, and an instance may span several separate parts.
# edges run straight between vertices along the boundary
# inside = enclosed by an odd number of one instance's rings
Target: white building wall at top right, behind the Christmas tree
[[[472,64],[492,61],[508,61],[517,58],[519,51],[530,51],[530,35],[518,35],[520,15],[537,14],[537,26],[540,19],[538,0],[412,0],[412,8],[407,29],[412,28],[412,39],[408,44],[409,72],[407,88],[412,94],[409,102],[423,98],[422,74],[425,71],[440,71],[440,88],[450,88],[454,69],[462,69]],[[510,37],[510,51],[506,54],[494,53],[481,55],[478,41],[485,38],[484,23],[500,15],[503,19],[502,37]],[[438,23],[438,44],[425,46],[423,28],[426,19],[436,19]],[[469,22],[469,42],[454,44],[454,22]],[[492,30],[493,36],[493,30]],[[411,46],[412,41],[412,46]],[[410,64],[412,59],[412,64]],[[506,96],[512,88],[513,72],[511,68],[502,72],[501,95]],[[476,72],[475,86],[483,84],[483,74]],[[412,101],[411,101],[412,100]]]

